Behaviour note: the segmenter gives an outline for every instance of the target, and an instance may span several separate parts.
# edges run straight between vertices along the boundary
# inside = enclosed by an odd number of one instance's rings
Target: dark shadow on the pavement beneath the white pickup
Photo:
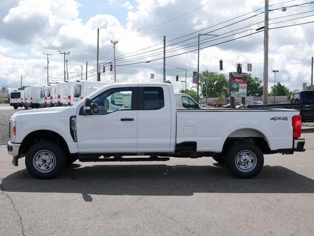
[[[74,163],[56,179],[37,180],[26,169],[1,182],[8,192],[189,196],[194,193],[314,193],[314,180],[282,166],[264,166],[253,179],[235,179],[224,165],[93,165]]]

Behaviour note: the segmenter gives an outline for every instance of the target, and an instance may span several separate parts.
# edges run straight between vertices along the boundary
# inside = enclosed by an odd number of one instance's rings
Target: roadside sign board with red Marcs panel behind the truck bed
[[[247,74],[229,73],[229,93],[230,97],[246,97],[247,94]]]

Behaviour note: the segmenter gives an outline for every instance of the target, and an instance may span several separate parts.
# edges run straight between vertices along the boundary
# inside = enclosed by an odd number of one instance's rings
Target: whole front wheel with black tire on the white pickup
[[[35,163],[33,163],[33,158],[38,157],[39,153],[42,151],[44,158],[50,157],[52,155],[51,159],[54,159],[53,161],[50,161],[49,163],[53,162],[53,166],[51,169],[42,170],[40,171],[40,168],[44,168],[44,163],[47,163],[47,160],[44,162],[42,160],[42,165],[35,166]],[[46,155],[46,156],[45,156]],[[49,159],[49,160],[51,160]],[[30,147],[28,152],[26,153],[25,157],[25,165],[28,172],[34,176],[37,179],[53,179],[56,177],[63,169],[66,163],[65,154],[62,150],[62,148],[53,142],[50,141],[43,141],[34,144]],[[46,172],[44,172],[46,171]]]

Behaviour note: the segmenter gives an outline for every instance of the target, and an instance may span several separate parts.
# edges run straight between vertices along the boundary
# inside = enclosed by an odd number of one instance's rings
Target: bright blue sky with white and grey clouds
[[[269,27],[314,21],[314,4],[289,7],[310,1],[269,0]],[[47,57],[43,53],[52,54],[50,81],[63,80],[63,55],[58,50],[70,52],[66,57],[69,78],[80,79],[80,65],[85,73],[87,61],[88,79],[96,80],[97,28],[100,62],[112,60],[110,40],[118,40],[120,82],[153,80],[151,73],[155,73],[155,81],[162,80],[160,58],[165,35],[166,56],[172,56],[166,59],[166,78],[179,90],[185,75],[176,67],[185,68],[187,87],[192,86],[198,33],[215,35],[200,37],[200,71],[219,72],[219,59],[223,59],[221,73],[235,71],[236,62],[242,63],[246,72],[246,63],[252,63],[252,74],[262,79],[263,32],[249,34],[263,26],[263,5],[263,0],[1,0],[0,86],[17,88],[21,75],[23,85],[45,84]],[[314,23],[269,31],[269,87],[272,70],[279,70],[277,81],[290,90],[302,88],[303,82],[311,83],[313,27]],[[235,38],[239,39],[226,42]],[[175,82],[176,75],[179,82]],[[113,73],[109,70],[101,74],[102,81],[110,79]]]

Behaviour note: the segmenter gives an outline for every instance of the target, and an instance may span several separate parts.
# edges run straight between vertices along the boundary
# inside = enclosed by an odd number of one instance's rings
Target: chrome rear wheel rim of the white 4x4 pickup
[[[239,171],[249,172],[257,164],[256,155],[249,150],[242,150],[235,156],[235,166]]]

